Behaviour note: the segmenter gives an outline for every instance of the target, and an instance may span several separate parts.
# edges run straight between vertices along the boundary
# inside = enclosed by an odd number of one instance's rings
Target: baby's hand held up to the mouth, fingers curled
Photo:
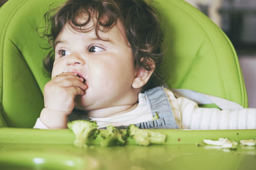
[[[69,115],[75,106],[75,97],[83,96],[87,86],[76,73],[61,73],[44,87],[45,108]]]

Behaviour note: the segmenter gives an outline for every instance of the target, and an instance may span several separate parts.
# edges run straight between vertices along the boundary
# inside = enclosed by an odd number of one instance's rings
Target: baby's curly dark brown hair
[[[88,19],[77,22],[77,17],[87,15]],[[95,20],[93,27],[83,27]],[[148,71],[155,69],[143,91],[163,83],[163,74],[159,73],[159,66],[163,62],[163,30],[157,10],[143,0],[68,0],[60,7],[45,13],[47,22],[44,30],[51,45],[51,51],[44,59],[44,68],[51,74],[54,63],[55,40],[65,24],[69,24],[76,31],[86,32],[95,29],[107,32],[120,20],[124,26],[127,44],[131,46],[134,67],[144,67]],[[102,39],[104,40],[104,39]],[[150,61],[150,62],[148,62]],[[152,61],[155,67],[152,66]]]

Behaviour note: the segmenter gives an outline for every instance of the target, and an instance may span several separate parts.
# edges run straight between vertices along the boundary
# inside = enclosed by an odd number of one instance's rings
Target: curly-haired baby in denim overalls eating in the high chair
[[[160,86],[163,31],[145,1],[69,0],[50,21],[52,80],[34,128],[86,119],[100,128],[256,129],[256,110],[198,108]]]

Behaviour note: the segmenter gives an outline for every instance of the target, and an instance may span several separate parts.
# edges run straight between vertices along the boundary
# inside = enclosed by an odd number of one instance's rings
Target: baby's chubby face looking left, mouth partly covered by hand
[[[92,22],[87,26],[92,26]],[[127,45],[124,29],[118,21],[108,32],[95,30],[77,32],[66,24],[56,39],[55,61],[52,78],[60,73],[74,72],[88,85],[83,96],[76,97],[76,108],[99,110],[111,106],[134,103],[132,88],[136,75],[132,50]]]

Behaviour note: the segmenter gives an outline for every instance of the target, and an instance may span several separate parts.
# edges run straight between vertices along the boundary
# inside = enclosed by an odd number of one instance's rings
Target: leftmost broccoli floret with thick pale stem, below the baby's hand
[[[89,137],[96,138],[99,134],[96,122],[90,122],[87,120],[74,120],[68,122],[68,129],[72,130],[76,135],[74,145],[79,148],[86,148],[86,141]]]

